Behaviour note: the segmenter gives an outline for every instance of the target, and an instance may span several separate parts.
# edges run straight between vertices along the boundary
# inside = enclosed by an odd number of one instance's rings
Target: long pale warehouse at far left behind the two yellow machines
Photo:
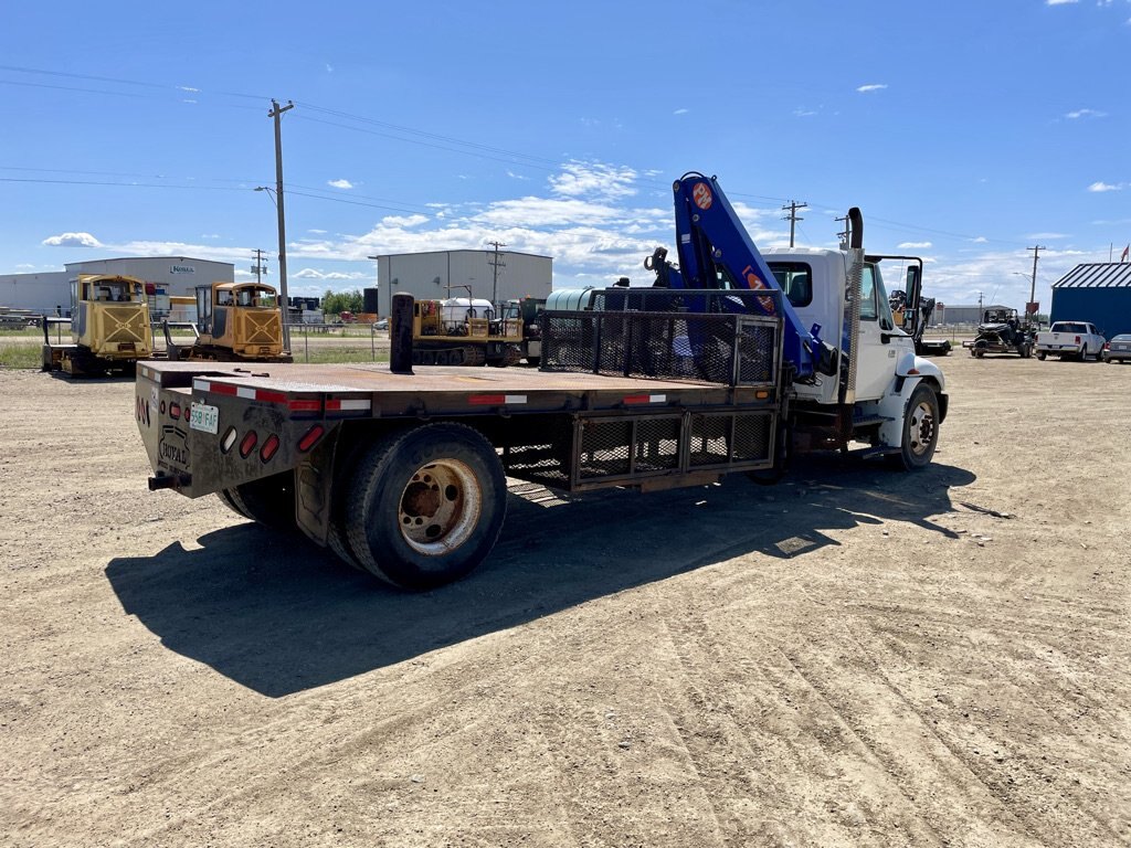
[[[164,285],[170,295],[190,296],[197,286],[235,280],[235,266],[190,257],[123,257],[67,262],[62,271],[0,274],[0,305],[54,314],[70,309],[70,280],[79,274],[120,274]]]

